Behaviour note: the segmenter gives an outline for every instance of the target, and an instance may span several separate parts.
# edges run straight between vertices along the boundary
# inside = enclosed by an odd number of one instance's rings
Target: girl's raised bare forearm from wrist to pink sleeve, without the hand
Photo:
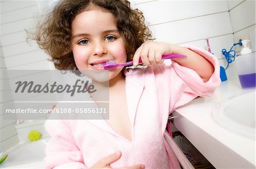
[[[214,67],[207,59],[187,48],[172,44],[170,45],[172,48],[172,53],[183,54],[187,56],[185,59],[173,59],[174,61],[182,66],[195,70],[204,82],[209,80],[213,74]]]

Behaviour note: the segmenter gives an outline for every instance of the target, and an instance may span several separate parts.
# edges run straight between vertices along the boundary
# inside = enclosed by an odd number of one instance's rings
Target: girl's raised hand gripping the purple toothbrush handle
[[[172,44],[146,41],[139,47],[133,57],[133,65],[137,66],[139,58],[141,58],[143,65],[157,65],[162,64],[163,54],[172,54]]]

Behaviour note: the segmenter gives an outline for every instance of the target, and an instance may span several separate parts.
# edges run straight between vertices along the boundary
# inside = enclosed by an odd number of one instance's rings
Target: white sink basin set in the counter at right
[[[255,138],[255,90],[237,95],[216,105],[213,119],[237,134]]]

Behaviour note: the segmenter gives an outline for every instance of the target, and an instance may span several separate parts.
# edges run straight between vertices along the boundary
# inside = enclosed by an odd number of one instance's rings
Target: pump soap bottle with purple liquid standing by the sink
[[[252,53],[248,43],[250,40],[242,40],[241,55],[236,58],[237,73],[243,89],[255,88],[255,52]]]

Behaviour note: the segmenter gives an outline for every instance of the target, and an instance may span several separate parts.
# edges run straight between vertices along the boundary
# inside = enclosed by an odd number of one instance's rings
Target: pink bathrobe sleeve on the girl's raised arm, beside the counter
[[[214,66],[214,72],[209,81],[203,82],[196,71],[172,61],[170,66],[170,112],[190,102],[197,96],[205,97],[212,95],[214,89],[221,83],[220,65],[213,54],[192,46],[186,46],[185,48],[193,50],[193,52],[206,58]]]

